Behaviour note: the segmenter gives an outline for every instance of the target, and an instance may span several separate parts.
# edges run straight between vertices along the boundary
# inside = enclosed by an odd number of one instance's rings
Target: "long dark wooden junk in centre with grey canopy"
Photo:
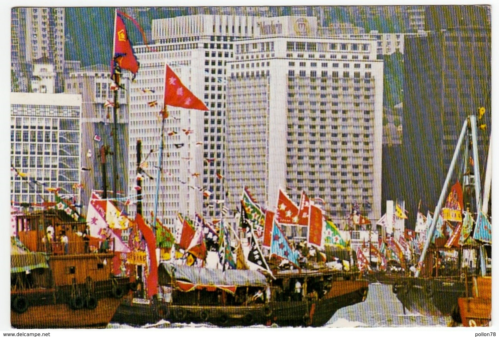
[[[271,278],[258,271],[222,272],[163,262],[158,274],[159,298],[141,303],[130,296],[113,322],[321,327],[338,309],[364,301],[368,291],[360,273],[326,268],[277,271]]]

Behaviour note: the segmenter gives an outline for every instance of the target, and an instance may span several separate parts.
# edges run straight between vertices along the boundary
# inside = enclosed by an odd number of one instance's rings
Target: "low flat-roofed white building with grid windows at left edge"
[[[10,196],[14,203],[53,201],[47,188],[79,201],[81,95],[10,94]]]

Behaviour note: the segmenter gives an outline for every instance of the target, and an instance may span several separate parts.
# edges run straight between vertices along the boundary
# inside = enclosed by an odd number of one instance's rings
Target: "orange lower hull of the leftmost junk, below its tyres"
[[[17,329],[105,328],[122,299],[99,299],[97,308],[72,310],[67,304],[29,307],[17,314],[10,311],[10,325]]]

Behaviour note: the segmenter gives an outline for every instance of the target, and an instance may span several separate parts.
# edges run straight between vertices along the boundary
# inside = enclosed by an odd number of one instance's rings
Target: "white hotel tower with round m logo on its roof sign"
[[[383,62],[376,41],[317,37],[315,17],[257,20],[228,62],[227,184],[274,209],[279,187],[321,198],[343,225],[379,219]]]

